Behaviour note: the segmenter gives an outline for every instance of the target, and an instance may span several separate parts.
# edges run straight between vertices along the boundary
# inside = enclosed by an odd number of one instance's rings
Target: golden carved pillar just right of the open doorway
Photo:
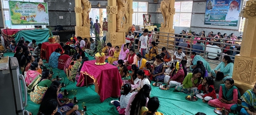
[[[122,6],[122,4],[125,6],[118,8],[118,6]],[[132,0],[128,0],[128,2],[125,2],[125,0],[108,0],[108,6],[106,7],[108,15],[108,32],[106,35],[106,43],[111,43],[113,46],[122,46],[122,44],[125,43],[125,33],[129,28],[129,24],[126,24],[125,22],[123,22],[124,24],[119,23],[119,25],[122,26],[117,30],[117,17],[124,17],[125,13],[127,13],[127,9],[129,8],[128,4],[131,5],[131,9],[129,9],[129,11],[133,11]],[[132,22],[132,14],[130,13],[133,12],[128,13],[128,22]]]

